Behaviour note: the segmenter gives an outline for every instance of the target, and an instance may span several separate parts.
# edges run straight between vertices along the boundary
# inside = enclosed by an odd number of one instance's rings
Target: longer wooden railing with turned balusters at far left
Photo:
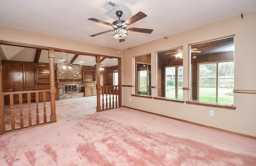
[[[49,123],[51,111],[50,101],[46,102],[47,92],[49,94],[50,90],[2,92],[4,132]]]

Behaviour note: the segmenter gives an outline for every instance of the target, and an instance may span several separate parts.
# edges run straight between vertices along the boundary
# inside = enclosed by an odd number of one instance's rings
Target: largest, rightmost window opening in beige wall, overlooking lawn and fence
[[[234,104],[234,38],[191,45],[191,98]]]

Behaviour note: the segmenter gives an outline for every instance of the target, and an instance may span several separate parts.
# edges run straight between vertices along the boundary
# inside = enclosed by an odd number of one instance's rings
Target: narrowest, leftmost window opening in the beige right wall
[[[142,55],[134,58],[135,92],[140,95],[151,96],[151,55]]]

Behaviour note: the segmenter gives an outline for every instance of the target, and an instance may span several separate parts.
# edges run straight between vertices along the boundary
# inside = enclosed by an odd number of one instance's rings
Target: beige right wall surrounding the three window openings
[[[134,86],[133,57],[151,52],[152,61],[152,86],[157,86],[156,78],[156,52],[183,46],[184,48],[184,82],[183,86],[189,87],[189,62],[188,45],[235,36],[235,76],[234,89],[256,90],[256,11],[233,18],[221,20],[212,24],[187,30],[178,34],[148,42],[131,49],[124,50],[122,58],[122,84]],[[125,63],[124,63],[125,62]],[[157,90],[152,89],[152,96],[156,96]],[[122,88],[122,104],[157,114],[180,118],[199,124],[213,126],[224,130],[230,130],[242,134],[256,136],[256,94],[235,93],[234,106],[236,110],[212,108],[190,104],[181,104],[147,98],[134,97],[134,88]],[[184,100],[189,100],[188,90],[184,90]],[[129,102],[131,98],[131,102]],[[210,116],[210,110],[214,110],[214,116]]]

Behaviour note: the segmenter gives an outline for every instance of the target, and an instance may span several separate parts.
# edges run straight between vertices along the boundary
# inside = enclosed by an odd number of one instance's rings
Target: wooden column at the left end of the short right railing
[[[96,56],[96,90],[97,90],[97,107],[96,111],[100,112],[100,56]]]

